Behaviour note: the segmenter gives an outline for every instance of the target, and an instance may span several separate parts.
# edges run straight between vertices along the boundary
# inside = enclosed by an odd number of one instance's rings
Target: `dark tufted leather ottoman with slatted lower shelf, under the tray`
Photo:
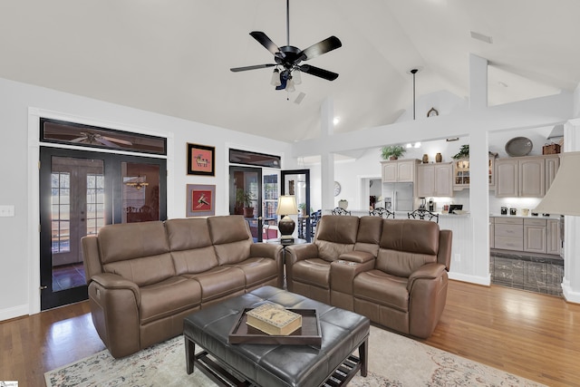
[[[237,315],[266,300],[288,308],[316,309],[322,347],[227,343]],[[187,372],[193,372],[195,364],[214,382],[224,385],[320,386],[331,376],[332,385],[343,385],[359,369],[366,376],[369,327],[369,319],[360,314],[264,286],[185,318]],[[206,352],[195,355],[196,344]],[[352,355],[357,348],[360,359]]]

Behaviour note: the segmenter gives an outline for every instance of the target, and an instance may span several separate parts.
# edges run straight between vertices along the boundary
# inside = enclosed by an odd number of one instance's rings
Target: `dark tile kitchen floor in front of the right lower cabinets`
[[[491,283],[544,295],[562,295],[564,260],[559,256],[523,256],[492,250]]]

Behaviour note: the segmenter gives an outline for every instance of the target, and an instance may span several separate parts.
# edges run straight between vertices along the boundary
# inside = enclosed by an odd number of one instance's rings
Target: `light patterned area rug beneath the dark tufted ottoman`
[[[216,384],[198,370],[188,375],[183,336],[114,359],[104,350],[44,374],[49,387],[197,386]],[[369,374],[349,386],[542,386],[452,353],[371,326]],[[264,386],[267,387],[267,386]]]

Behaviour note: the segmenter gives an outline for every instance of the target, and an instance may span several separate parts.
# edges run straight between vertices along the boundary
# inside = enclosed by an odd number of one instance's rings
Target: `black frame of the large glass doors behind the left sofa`
[[[52,227],[51,227],[51,173],[52,157],[97,159],[104,162],[105,224],[121,223],[121,162],[160,165],[160,219],[167,218],[167,160],[147,156],[132,156],[92,150],[40,147],[39,215],[40,215],[40,289],[41,310],[86,300],[87,285],[53,292]]]

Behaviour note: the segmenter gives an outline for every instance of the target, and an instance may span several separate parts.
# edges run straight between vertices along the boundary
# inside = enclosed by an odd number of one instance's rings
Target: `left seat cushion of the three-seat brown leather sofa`
[[[197,281],[173,276],[157,284],[140,288],[140,324],[192,309],[201,301],[201,286]]]

